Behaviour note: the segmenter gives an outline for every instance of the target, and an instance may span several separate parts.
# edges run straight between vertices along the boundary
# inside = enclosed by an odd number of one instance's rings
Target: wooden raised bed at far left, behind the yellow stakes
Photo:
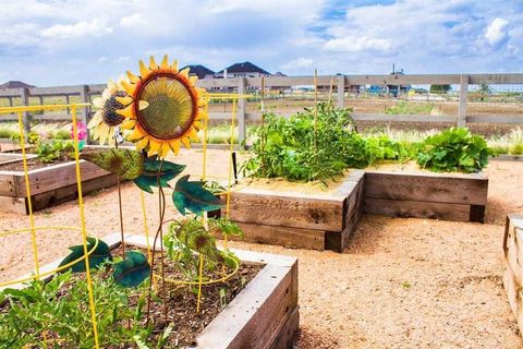
[[[92,163],[81,160],[80,167],[84,194],[117,183],[114,174]],[[33,210],[74,200],[78,195],[74,161],[29,170],[28,177]],[[24,172],[0,170],[0,212],[28,214]]]

